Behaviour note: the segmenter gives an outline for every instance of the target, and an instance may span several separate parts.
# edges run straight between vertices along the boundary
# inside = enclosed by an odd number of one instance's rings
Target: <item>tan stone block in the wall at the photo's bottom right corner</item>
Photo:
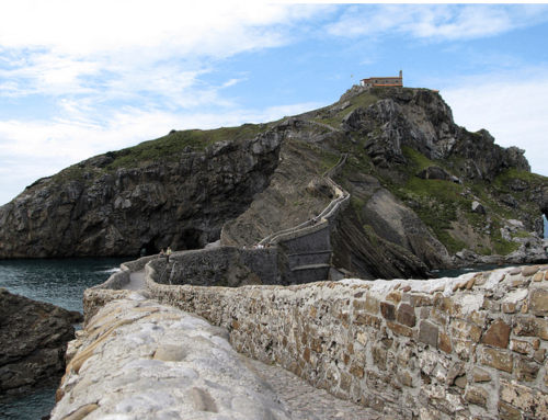
[[[500,400],[506,402],[529,418],[548,419],[548,394],[516,381],[500,379]]]

